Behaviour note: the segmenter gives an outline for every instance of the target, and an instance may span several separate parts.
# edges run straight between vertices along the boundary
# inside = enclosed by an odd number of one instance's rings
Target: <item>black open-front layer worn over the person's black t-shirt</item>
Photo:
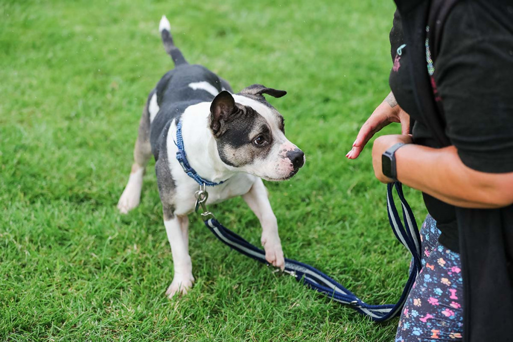
[[[413,96],[423,124],[439,147],[451,143],[446,135],[443,101],[442,106],[435,102],[427,73],[426,25],[429,22],[431,29],[441,28],[453,3],[454,0],[396,0],[411,58],[408,65]],[[494,6],[506,2],[487,3]],[[435,36],[435,42],[440,39]],[[436,49],[436,43],[433,46]],[[513,341],[513,206],[456,208],[456,217],[464,285],[463,338],[472,342]]]

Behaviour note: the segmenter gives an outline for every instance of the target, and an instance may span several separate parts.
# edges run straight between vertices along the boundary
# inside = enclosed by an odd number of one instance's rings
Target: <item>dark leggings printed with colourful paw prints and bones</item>
[[[463,281],[458,253],[438,243],[440,231],[430,215],[420,231],[422,271],[404,305],[396,342],[461,341]]]

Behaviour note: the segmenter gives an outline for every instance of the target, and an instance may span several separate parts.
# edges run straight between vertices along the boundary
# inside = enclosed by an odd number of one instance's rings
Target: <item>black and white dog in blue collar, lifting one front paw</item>
[[[194,210],[199,183],[219,184],[208,189],[207,204],[234,196],[244,198],[262,225],[267,261],[283,269],[277,220],[261,178],[289,179],[305,163],[303,151],[285,137],[282,115],[263,96],[281,97],[285,91],[252,85],[233,94],[224,79],[186,62],[174,46],[170,30],[163,16],[159,31],[175,68],[148,96],[130,178],[117,204],[122,213],[139,205],[143,174],[153,154],[174,264],[174,277],[166,291],[169,298],[177,292],[187,293],[194,281],[187,215]],[[177,159],[179,127],[188,164],[201,177],[200,182],[184,172]]]

